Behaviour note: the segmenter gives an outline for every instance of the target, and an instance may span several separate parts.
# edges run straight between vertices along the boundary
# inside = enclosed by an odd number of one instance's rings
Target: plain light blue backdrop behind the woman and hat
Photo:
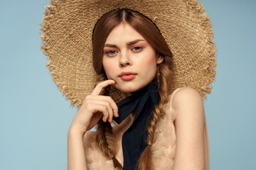
[[[210,169],[256,169],[256,1],[201,1],[213,22],[218,66],[205,101]],[[0,169],[67,169],[75,113],[46,69],[39,23],[48,0],[2,1]]]

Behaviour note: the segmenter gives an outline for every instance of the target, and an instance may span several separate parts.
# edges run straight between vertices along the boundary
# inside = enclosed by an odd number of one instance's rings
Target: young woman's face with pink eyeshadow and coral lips
[[[163,60],[137,30],[121,23],[107,37],[102,64],[107,78],[116,81],[114,86],[129,96],[154,79],[156,64]]]

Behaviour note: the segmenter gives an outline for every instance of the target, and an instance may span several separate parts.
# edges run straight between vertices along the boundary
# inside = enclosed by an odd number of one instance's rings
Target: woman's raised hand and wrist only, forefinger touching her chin
[[[111,123],[113,116],[119,116],[117,104],[113,99],[110,96],[100,96],[103,88],[115,83],[114,80],[106,80],[95,86],[92,94],[86,96],[85,101],[83,101],[82,106],[75,115],[70,125],[70,130],[85,135],[85,132],[93,128],[100,118],[104,122]]]

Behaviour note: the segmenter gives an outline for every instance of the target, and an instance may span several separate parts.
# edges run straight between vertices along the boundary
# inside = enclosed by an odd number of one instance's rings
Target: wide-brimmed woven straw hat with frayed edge
[[[173,53],[171,92],[190,86],[203,99],[210,94],[216,50],[210,18],[197,0],[60,0],[45,7],[41,49],[53,81],[71,105],[81,106],[95,87],[92,30],[115,8],[139,11],[159,28]]]

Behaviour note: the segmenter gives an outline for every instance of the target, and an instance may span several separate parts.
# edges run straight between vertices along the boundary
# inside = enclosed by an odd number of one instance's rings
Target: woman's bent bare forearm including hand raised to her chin
[[[83,138],[85,132],[93,128],[102,118],[104,122],[112,122],[112,117],[118,117],[118,108],[110,96],[100,96],[103,88],[114,84],[113,80],[102,81],[87,95],[68,130],[68,170],[86,170],[85,147]]]

